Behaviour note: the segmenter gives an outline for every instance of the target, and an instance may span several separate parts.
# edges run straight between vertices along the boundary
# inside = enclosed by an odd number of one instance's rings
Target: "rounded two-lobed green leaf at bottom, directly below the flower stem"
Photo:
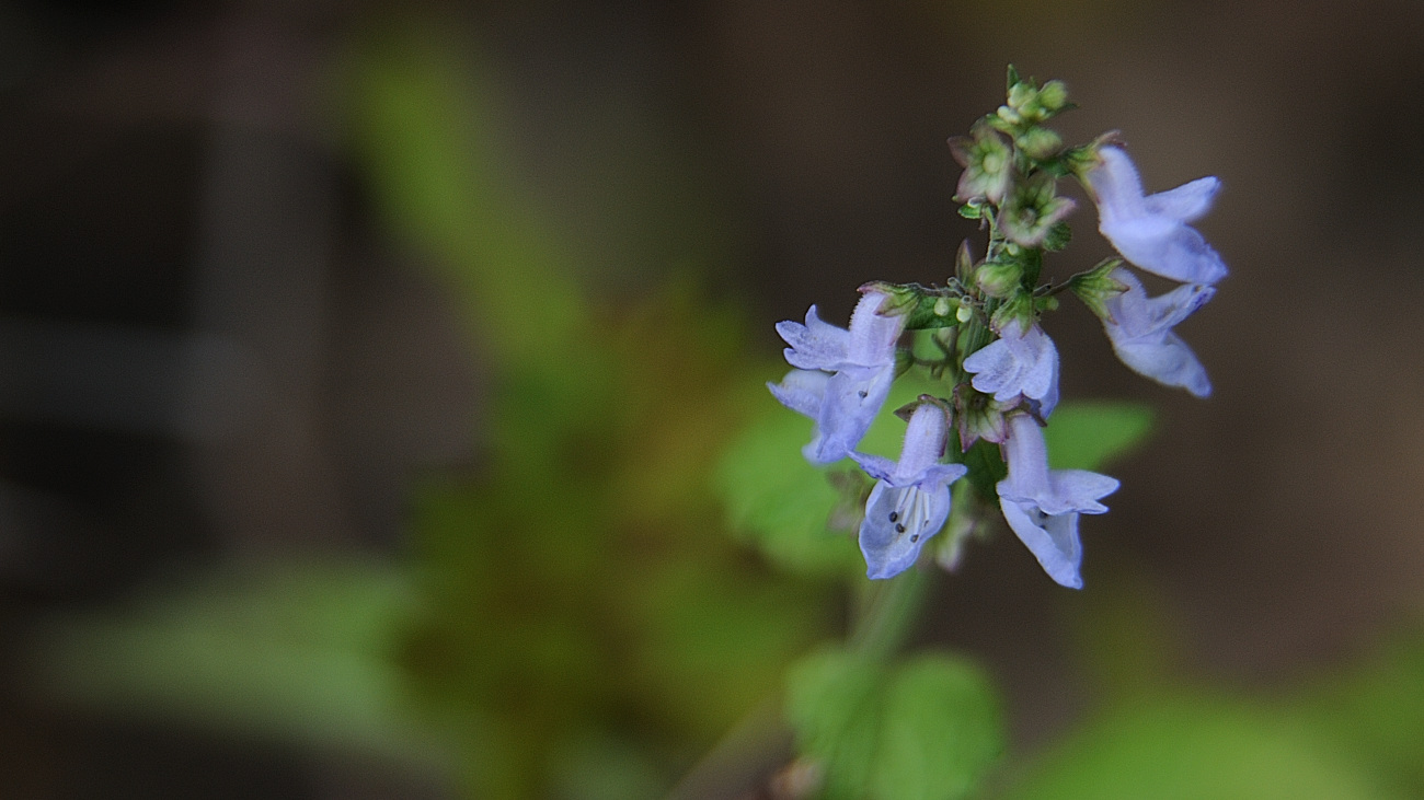
[[[1004,746],[988,680],[944,653],[896,666],[815,653],[790,672],[787,717],[832,800],[967,797]]]

